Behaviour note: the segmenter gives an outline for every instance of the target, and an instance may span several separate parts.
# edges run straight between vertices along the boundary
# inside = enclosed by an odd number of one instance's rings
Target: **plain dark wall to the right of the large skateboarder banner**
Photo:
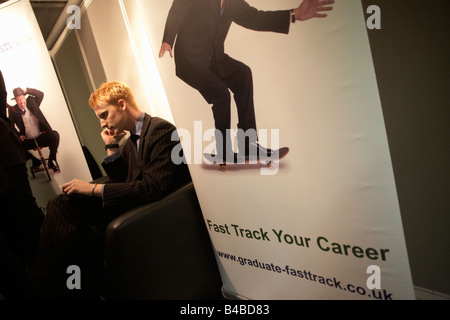
[[[450,294],[450,2],[363,0],[415,286]]]

